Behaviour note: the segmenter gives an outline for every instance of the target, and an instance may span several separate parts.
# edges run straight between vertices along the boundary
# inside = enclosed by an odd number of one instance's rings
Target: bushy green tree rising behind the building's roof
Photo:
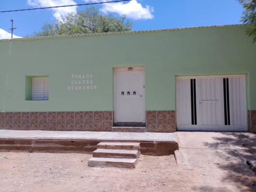
[[[131,28],[132,22],[125,16],[120,18],[113,14],[106,15],[97,7],[89,7],[77,14],[70,13],[54,24],[45,22],[41,31],[35,32],[33,36],[107,33],[129,31]]]

